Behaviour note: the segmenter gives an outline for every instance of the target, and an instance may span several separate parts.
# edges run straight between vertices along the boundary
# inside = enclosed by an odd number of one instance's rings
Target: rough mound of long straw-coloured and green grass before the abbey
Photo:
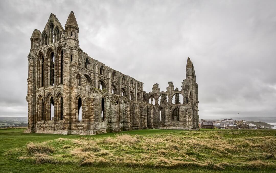
[[[276,131],[174,131],[148,135],[58,138],[8,151],[20,160],[54,164],[223,170],[275,169]]]

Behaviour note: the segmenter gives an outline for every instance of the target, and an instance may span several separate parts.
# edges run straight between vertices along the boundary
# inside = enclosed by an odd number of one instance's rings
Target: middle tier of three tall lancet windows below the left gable
[[[61,47],[58,47],[57,54],[52,48],[49,48],[46,58],[42,52],[39,52],[37,61],[38,87],[63,84],[63,59],[64,53]]]

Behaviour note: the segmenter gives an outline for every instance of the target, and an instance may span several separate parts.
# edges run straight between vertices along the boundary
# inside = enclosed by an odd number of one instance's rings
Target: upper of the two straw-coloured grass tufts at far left
[[[30,142],[27,144],[28,154],[32,153],[52,153],[55,149],[51,146],[48,146],[46,143],[33,143]]]

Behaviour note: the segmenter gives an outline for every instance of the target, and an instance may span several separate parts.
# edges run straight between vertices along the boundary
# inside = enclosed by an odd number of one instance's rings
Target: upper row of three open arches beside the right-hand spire
[[[150,95],[149,99],[148,99],[148,103],[155,105],[155,97],[153,97],[153,95]],[[180,93],[176,93],[174,95],[172,95],[172,99],[171,99],[171,104],[183,104],[183,103],[188,103],[188,99],[186,98],[184,100],[184,97],[182,94]],[[161,94],[158,97],[158,105],[168,105],[169,104],[169,97],[166,94]]]

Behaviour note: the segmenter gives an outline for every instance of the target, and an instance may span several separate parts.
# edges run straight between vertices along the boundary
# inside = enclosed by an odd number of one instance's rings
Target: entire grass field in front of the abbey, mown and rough
[[[93,136],[23,130],[0,130],[0,172],[276,171],[275,156],[266,150],[276,130],[153,129]]]

